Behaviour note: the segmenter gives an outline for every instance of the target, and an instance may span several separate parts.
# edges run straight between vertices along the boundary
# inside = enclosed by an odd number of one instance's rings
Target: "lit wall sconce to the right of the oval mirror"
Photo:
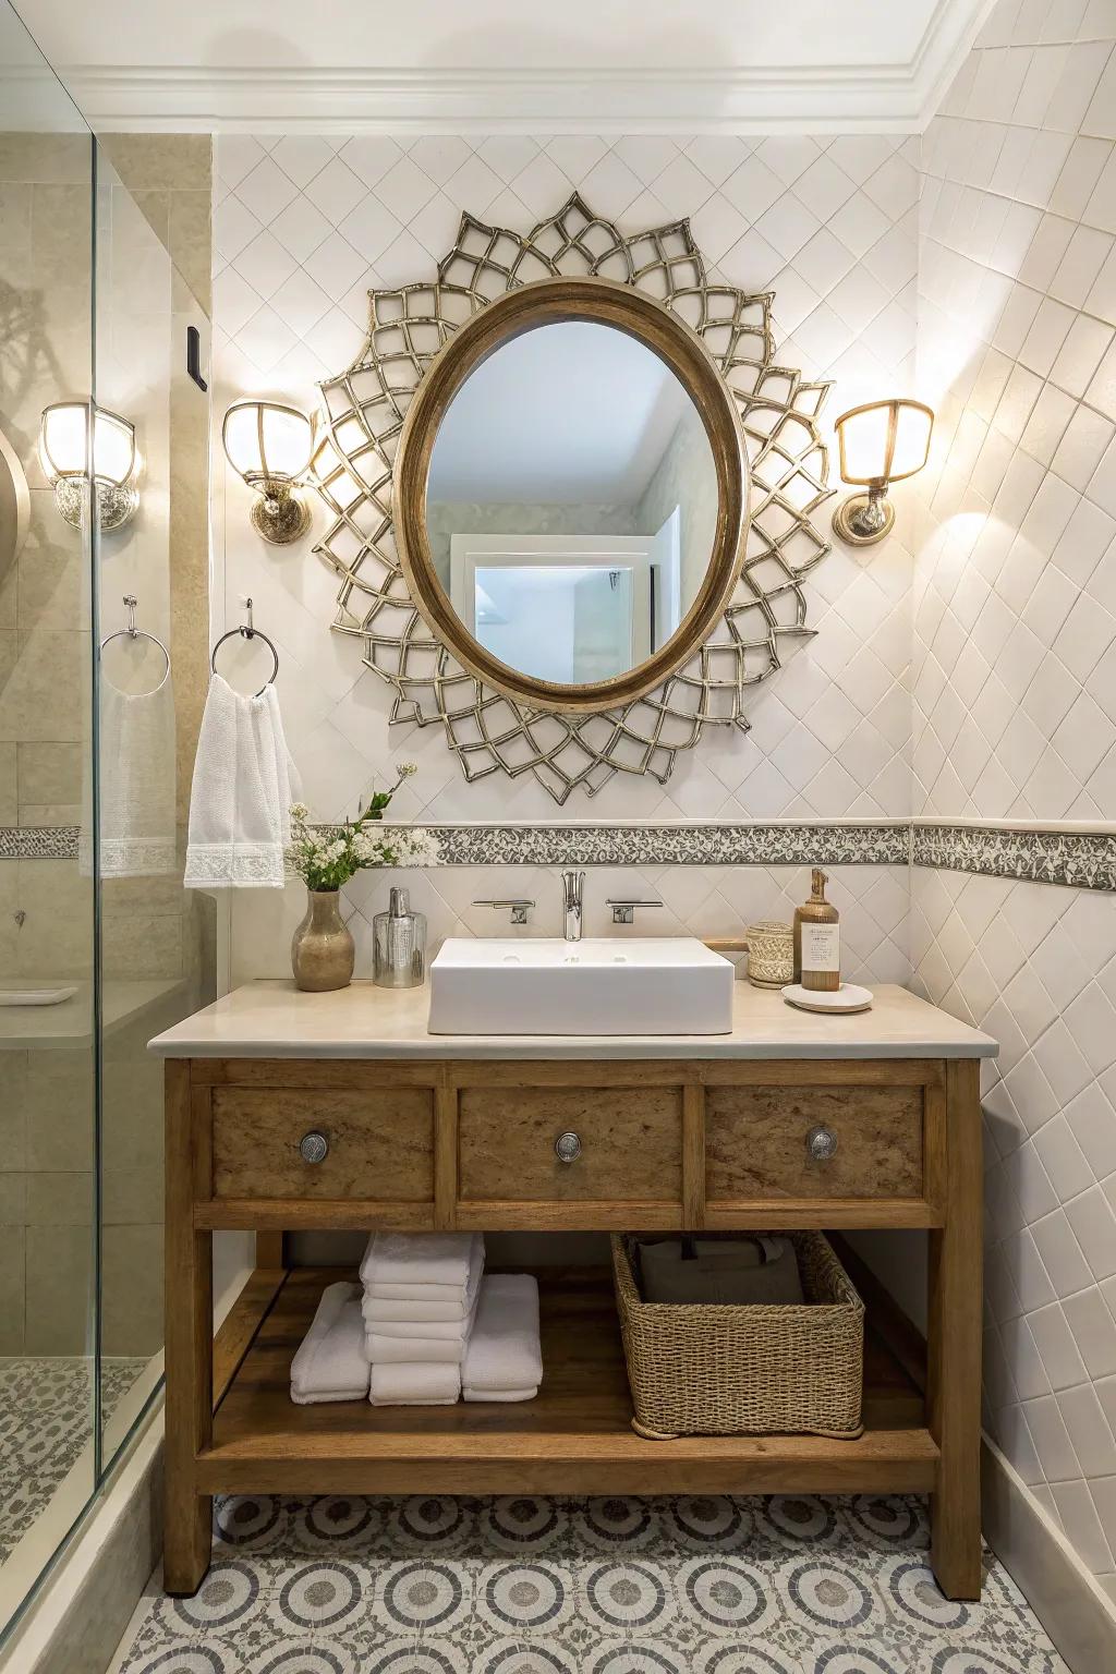
[[[922,470],[930,452],[934,408],[924,402],[890,400],[850,407],[837,420],[842,480],[867,487],[850,494],[833,512],[833,532],[850,546],[872,546],[890,534],[895,507],[890,482]]]

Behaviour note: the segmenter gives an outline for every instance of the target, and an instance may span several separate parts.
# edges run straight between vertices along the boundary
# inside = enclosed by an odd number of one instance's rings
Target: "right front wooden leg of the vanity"
[[[980,1081],[975,1060],[945,1065],[945,1225],[930,1232],[927,1411],[940,1458],[930,1497],[930,1564],[947,1599],[980,1597]]]

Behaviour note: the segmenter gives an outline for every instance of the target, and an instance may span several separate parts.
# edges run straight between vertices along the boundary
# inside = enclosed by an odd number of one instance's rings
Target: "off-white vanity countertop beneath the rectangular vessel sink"
[[[162,1058],[994,1058],[997,1043],[880,984],[870,1011],[818,1016],[736,983],[728,1035],[428,1035],[430,989],[258,981],[157,1035]]]

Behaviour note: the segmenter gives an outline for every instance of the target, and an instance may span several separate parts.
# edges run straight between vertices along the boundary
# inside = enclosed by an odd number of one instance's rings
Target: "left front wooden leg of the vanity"
[[[212,1547],[212,1498],[199,1495],[196,1455],[212,1435],[212,1234],[194,1230],[201,1172],[191,1122],[189,1063],[166,1070],[166,1441],[164,1589],[197,1592]]]

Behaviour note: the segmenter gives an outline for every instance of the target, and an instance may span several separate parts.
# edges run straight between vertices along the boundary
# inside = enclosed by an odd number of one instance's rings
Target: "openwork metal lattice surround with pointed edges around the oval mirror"
[[[530,708],[477,678],[418,609],[397,539],[395,469],[408,408],[443,345],[505,293],[539,280],[614,280],[684,321],[740,413],[750,522],[740,574],[709,636],[666,680],[596,713]],[[775,358],[771,296],[713,280],[686,219],[637,233],[574,193],[529,233],[463,214],[437,276],[370,291],[365,343],[325,378],[315,490],[328,526],[315,552],[340,581],[335,633],[393,691],[392,723],[442,727],[467,780],[535,778],[561,805],[616,773],[666,783],[706,727],[748,732],[745,696],[811,638],[803,578],[830,551],[813,514],[832,497],[818,413],[828,382]]]

